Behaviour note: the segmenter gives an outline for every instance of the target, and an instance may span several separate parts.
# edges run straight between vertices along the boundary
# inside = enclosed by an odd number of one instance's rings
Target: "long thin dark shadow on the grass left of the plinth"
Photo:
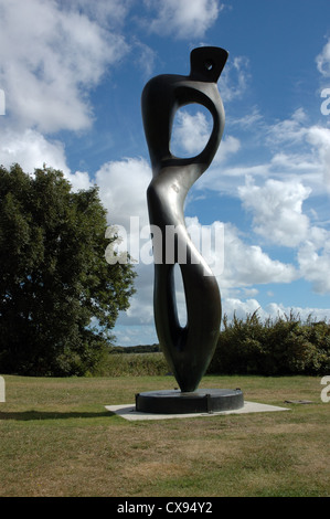
[[[67,419],[99,419],[99,417],[111,417],[114,413],[109,411],[103,412],[67,412],[61,413],[56,411],[23,411],[23,412],[1,412],[0,420],[19,420],[28,422],[30,420],[67,420]]]

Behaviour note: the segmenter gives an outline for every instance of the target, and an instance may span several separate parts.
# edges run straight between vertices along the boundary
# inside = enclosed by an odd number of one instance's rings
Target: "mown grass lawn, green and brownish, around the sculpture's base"
[[[206,377],[290,411],[128,422],[105,405],[172,377],[4,375],[0,496],[330,496],[330,402],[318,377]],[[312,403],[285,404],[286,400]]]

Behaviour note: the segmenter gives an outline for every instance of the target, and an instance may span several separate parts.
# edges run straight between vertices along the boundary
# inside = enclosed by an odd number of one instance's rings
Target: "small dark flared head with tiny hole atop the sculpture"
[[[190,53],[190,77],[216,83],[225,66],[228,53],[219,46],[200,46]]]

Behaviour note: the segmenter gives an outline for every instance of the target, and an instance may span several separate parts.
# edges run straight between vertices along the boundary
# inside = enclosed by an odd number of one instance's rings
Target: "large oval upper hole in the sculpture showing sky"
[[[205,148],[213,129],[211,113],[202,105],[189,104],[175,113],[170,149],[178,158],[195,157]]]

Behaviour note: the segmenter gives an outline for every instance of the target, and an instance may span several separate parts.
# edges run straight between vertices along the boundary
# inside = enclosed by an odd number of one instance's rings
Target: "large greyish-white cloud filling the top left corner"
[[[66,10],[56,1],[0,0],[0,9],[7,120],[42,133],[87,128],[93,113],[86,93],[127,52],[124,39],[77,3]]]

